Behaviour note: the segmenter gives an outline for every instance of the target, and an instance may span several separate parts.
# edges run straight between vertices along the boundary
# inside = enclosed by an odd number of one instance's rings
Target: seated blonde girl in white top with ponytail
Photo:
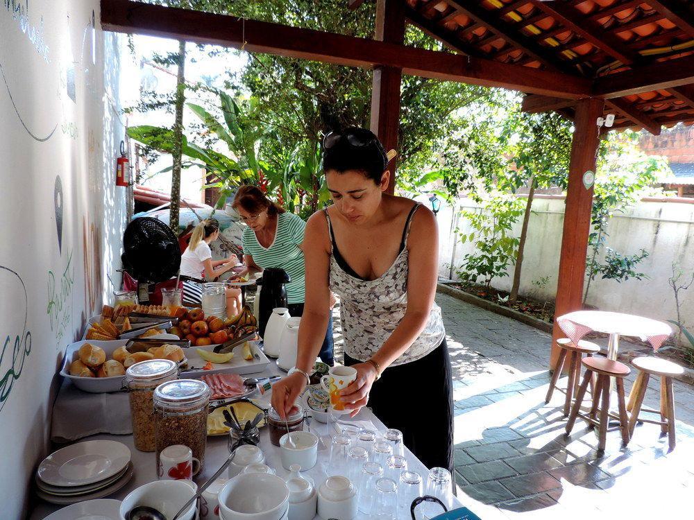
[[[228,258],[212,260],[212,250],[210,243],[217,240],[219,236],[219,222],[217,219],[208,218],[196,225],[190,236],[188,248],[180,257],[180,274],[198,279],[214,280],[232,269],[239,263],[239,257],[231,254]],[[183,282],[183,304],[200,305],[202,288],[201,284],[194,281]],[[238,288],[228,288],[227,291],[234,292],[234,299],[237,309],[233,315],[241,309],[241,290]],[[236,294],[238,293],[238,294]]]

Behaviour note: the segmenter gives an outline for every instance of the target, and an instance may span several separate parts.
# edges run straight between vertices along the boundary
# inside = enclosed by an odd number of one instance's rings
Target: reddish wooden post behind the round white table
[[[550,368],[555,367],[559,358],[559,348],[555,346],[555,343],[558,338],[564,336],[557,326],[557,316],[579,311],[582,305],[593,206],[593,184],[586,188],[584,177],[586,171],[595,172],[595,154],[600,144],[596,121],[602,116],[603,107],[604,100],[598,98],[581,99],[576,105],[575,131],[571,144],[566,208],[564,209],[564,233],[561,236]]]

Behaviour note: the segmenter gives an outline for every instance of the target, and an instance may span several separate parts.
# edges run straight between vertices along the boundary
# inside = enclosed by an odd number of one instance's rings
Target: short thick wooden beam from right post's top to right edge
[[[595,79],[593,96],[621,98],[694,83],[694,55],[655,62]]]

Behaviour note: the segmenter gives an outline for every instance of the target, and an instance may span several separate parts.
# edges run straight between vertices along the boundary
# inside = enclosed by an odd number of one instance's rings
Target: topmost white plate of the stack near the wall
[[[37,474],[49,485],[81,486],[118,474],[128,462],[130,449],[122,442],[87,440],[44,458]]]

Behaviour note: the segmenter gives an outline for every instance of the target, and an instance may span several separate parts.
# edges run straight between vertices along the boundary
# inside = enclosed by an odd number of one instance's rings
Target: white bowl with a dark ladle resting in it
[[[127,520],[128,513],[138,505],[148,505],[164,514],[167,518],[174,518],[183,504],[189,501],[197,491],[198,486],[190,480],[155,480],[148,484],[136,487],[131,491],[120,508],[120,519]],[[195,516],[196,503],[179,518],[180,520],[192,520]]]

